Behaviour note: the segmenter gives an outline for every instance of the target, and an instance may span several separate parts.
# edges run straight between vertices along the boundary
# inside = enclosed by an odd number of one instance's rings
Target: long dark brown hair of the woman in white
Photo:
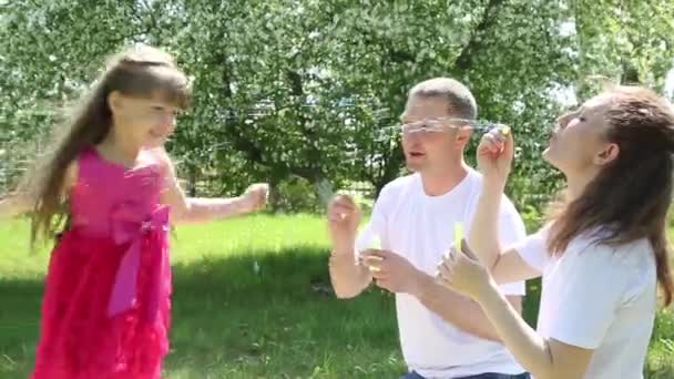
[[[561,204],[552,218],[549,249],[562,254],[572,238],[598,227],[609,232],[598,240],[604,244],[649,238],[667,306],[674,293],[666,239],[674,111],[667,101],[642,88],[620,86],[610,96],[605,137],[617,144],[619,155],[580,196]]]

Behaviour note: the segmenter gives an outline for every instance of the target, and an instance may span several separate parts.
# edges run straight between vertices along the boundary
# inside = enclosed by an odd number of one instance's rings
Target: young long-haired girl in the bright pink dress
[[[186,198],[163,152],[188,81],[141,45],[110,61],[53,154],[0,203],[33,212],[31,240],[53,236],[32,378],[159,378],[168,351],[167,228],[255,211],[267,186],[236,198]]]

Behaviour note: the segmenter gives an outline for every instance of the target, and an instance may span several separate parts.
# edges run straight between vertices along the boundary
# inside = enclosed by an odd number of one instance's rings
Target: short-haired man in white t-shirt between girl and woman
[[[400,345],[409,368],[402,378],[529,377],[498,341],[480,306],[433,278],[452,244],[455,223],[470,226],[480,195],[481,176],[463,161],[471,129],[457,120],[476,117],[472,94],[456,80],[417,84],[402,114],[402,150],[415,173],[382,188],[358,238],[360,212],[355,203],[337,196],[328,206],[335,293],[351,298],[374,280],[396,294]],[[502,204],[501,242],[508,245],[524,238],[525,231],[512,203],[506,198]],[[381,249],[367,248],[374,237]],[[501,290],[521,311],[524,284]]]

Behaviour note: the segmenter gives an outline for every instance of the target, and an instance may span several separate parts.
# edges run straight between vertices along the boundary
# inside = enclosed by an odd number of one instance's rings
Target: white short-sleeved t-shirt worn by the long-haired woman
[[[514,246],[543,275],[538,332],[593,349],[591,379],[643,378],[655,311],[655,258],[647,239],[620,246],[575,237],[561,256],[547,248],[548,228]]]

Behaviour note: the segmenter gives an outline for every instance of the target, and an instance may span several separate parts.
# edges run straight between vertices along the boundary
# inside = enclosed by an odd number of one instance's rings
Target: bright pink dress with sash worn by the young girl
[[[168,351],[168,208],[156,164],[129,170],[88,148],[54,247],[33,379],[160,378]]]

